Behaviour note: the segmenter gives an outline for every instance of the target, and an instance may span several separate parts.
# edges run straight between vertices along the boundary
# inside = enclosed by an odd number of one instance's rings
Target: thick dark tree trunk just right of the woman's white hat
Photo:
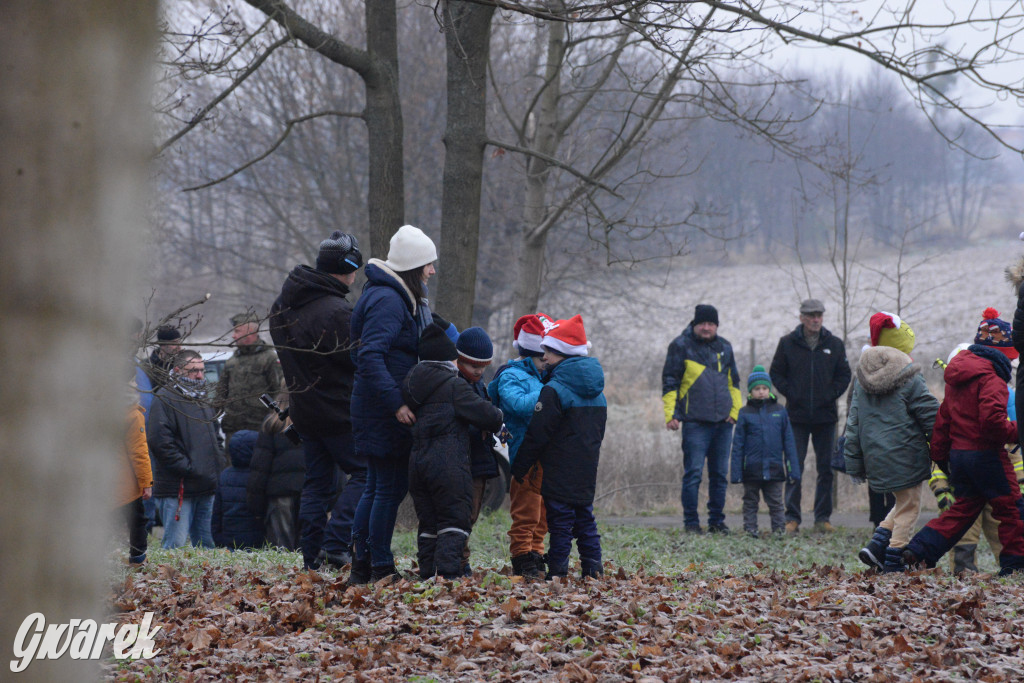
[[[437,309],[460,329],[472,325],[486,145],[487,53],[494,7],[449,0],[442,7],[447,54],[447,124],[441,194]]]

